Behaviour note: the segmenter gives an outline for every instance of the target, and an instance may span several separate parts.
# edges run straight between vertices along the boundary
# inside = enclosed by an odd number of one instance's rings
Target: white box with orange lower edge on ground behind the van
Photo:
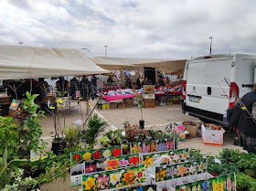
[[[208,125],[208,124],[206,124]],[[201,126],[201,136],[203,143],[211,145],[223,145],[223,133],[225,130],[221,127],[220,130],[208,130],[205,125]]]

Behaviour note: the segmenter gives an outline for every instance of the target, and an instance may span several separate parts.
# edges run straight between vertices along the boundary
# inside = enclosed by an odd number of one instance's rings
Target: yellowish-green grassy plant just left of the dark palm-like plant
[[[79,145],[81,142],[80,136],[81,127],[80,126],[66,126],[63,130],[67,140],[67,147],[72,148],[75,145]]]

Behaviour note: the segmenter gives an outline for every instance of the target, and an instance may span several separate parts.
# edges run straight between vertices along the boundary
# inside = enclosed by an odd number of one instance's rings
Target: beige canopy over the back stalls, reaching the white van
[[[186,59],[161,59],[161,58],[110,58],[95,57],[93,61],[103,69],[109,70],[132,70],[144,67],[157,68],[165,72],[184,70]]]

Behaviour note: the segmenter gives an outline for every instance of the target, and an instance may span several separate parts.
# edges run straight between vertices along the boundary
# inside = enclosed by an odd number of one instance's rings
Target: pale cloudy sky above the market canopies
[[[254,0],[0,0],[0,44],[89,48],[89,57],[256,53]]]

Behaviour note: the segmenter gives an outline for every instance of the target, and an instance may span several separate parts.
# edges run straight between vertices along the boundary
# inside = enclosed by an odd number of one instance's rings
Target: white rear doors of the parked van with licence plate
[[[186,105],[219,114],[227,111],[229,86],[224,79],[233,80],[233,67],[233,57],[190,60],[187,66]]]

